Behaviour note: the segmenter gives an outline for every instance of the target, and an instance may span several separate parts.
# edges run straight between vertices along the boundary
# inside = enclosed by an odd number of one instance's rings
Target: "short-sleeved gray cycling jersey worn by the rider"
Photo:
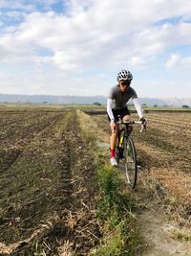
[[[130,99],[138,98],[137,92],[130,86],[126,92],[121,92],[118,85],[112,87],[108,99],[114,100],[114,109],[120,109],[126,106]]]

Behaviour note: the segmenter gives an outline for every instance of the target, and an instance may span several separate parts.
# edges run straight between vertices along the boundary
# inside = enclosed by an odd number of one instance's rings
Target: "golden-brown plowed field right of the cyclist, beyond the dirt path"
[[[93,113],[89,111],[99,128],[110,133],[106,114]],[[138,119],[136,114],[132,116]],[[140,175],[158,180],[163,193],[178,199],[190,215],[191,113],[147,113],[146,117],[146,132],[135,127],[132,133],[143,171]]]

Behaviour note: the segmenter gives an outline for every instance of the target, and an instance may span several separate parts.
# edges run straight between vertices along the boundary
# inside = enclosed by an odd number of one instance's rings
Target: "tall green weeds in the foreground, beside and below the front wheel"
[[[134,200],[122,191],[118,170],[101,166],[97,168],[99,201],[97,217],[104,227],[104,238],[93,255],[138,255],[141,237],[131,214]]]

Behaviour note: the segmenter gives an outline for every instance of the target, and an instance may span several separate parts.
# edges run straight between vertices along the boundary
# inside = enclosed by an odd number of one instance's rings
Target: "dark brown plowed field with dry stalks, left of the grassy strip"
[[[0,118],[0,254],[86,255],[100,233],[75,112],[1,109]]]

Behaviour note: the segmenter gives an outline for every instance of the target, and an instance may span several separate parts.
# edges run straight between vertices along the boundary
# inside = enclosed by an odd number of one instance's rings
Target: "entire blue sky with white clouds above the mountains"
[[[1,0],[0,93],[191,98],[191,2]]]

